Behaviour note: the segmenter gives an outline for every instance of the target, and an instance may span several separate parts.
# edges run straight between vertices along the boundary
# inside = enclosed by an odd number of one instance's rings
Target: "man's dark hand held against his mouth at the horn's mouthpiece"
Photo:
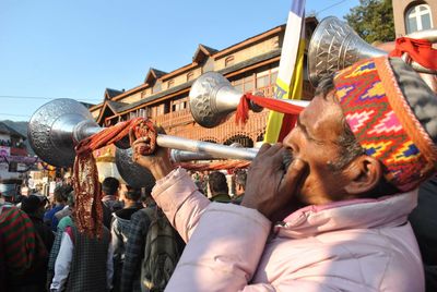
[[[273,223],[295,209],[293,199],[307,169],[307,165],[298,158],[285,169],[285,151],[287,149],[280,143],[262,145],[247,173],[241,202],[241,206],[257,209]]]

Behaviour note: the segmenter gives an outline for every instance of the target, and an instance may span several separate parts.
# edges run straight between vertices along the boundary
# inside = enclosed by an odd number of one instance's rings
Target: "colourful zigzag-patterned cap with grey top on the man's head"
[[[336,98],[366,154],[406,192],[436,172],[437,96],[399,58],[357,62],[334,76]]]

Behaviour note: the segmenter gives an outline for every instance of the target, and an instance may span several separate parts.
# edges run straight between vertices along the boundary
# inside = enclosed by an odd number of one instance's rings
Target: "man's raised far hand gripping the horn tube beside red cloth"
[[[156,146],[156,150],[154,154],[149,156],[143,156],[144,148],[147,148],[147,141],[146,138],[139,138],[132,145],[132,160],[138,165],[142,166],[143,168],[149,169],[155,180],[160,180],[166,177],[173,170],[173,165],[168,157],[168,149]]]

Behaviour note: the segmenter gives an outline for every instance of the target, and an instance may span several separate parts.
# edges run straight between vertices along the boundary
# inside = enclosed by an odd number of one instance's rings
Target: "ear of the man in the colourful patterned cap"
[[[344,174],[349,179],[344,190],[351,195],[359,195],[376,187],[382,175],[382,167],[378,159],[362,155],[351,162]]]

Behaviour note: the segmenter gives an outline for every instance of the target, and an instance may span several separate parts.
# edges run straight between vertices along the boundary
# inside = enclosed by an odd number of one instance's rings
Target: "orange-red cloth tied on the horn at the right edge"
[[[437,70],[437,50],[433,49],[429,40],[400,37],[395,40],[395,48],[389,56],[402,57],[404,52],[424,68]]]

